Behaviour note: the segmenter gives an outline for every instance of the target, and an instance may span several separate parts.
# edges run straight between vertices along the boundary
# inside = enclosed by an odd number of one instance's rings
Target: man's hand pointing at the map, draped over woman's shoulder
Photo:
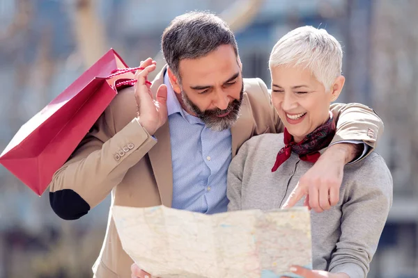
[[[355,144],[334,144],[299,180],[282,208],[291,208],[306,195],[304,205],[318,213],[339,202],[339,189],[343,181],[344,165],[357,155]]]

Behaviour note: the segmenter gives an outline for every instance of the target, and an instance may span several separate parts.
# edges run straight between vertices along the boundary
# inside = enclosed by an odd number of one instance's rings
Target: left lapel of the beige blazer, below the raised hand
[[[151,85],[151,91],[155,96],[161,84],[164,83],[164,73],[167,67],[157,74]],[[148,156],[160,191],[161,202],[164,206],[171,207],[173,199],[173,165],[171,163],[171,143],[169,121],[160,127],[154,134],[157,144],[150,149]]]

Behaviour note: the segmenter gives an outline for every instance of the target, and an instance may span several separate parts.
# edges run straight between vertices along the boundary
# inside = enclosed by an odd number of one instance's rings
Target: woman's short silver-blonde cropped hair
[[[295,28],[284,35],[270,54],[270,71],[280,65],[304,65],[329,91],[341,75],[341,44],[325,29],[313,26]]]

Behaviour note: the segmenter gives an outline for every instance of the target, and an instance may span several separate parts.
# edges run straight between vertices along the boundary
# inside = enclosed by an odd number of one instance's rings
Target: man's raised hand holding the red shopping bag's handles
[[[144,70],[135,74],[137,79],[135,100],[138,106],[138,121],[152,136],[157,129],[167,122],[167,86],[160,85],[154,99],[153,92],[151,92],[150,85],[146,83],[146,80],[148,74],[155,70],[156,62],[148,58],[141,63],[140,67],[144,67]]]

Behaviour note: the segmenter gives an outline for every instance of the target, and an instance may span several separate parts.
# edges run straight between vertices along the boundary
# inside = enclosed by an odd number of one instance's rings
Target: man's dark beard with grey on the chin
[[[212,110],[201,111],[190,99],[187,97],[185,92],[182,90],[181,98],[183,104],[186,108],[192,113],[196,114],[196,117],[212,131],[224,131],[225,129],[230,129],[231,126],[238,120],[240,115],[240,107],[242,103],[242,96],[244,94],[244,82],[242,82],[240,99],[234,99],[225,110],[215,108]],[[224,117],[218,117],[219,115],[224,115],[229,113]]]

